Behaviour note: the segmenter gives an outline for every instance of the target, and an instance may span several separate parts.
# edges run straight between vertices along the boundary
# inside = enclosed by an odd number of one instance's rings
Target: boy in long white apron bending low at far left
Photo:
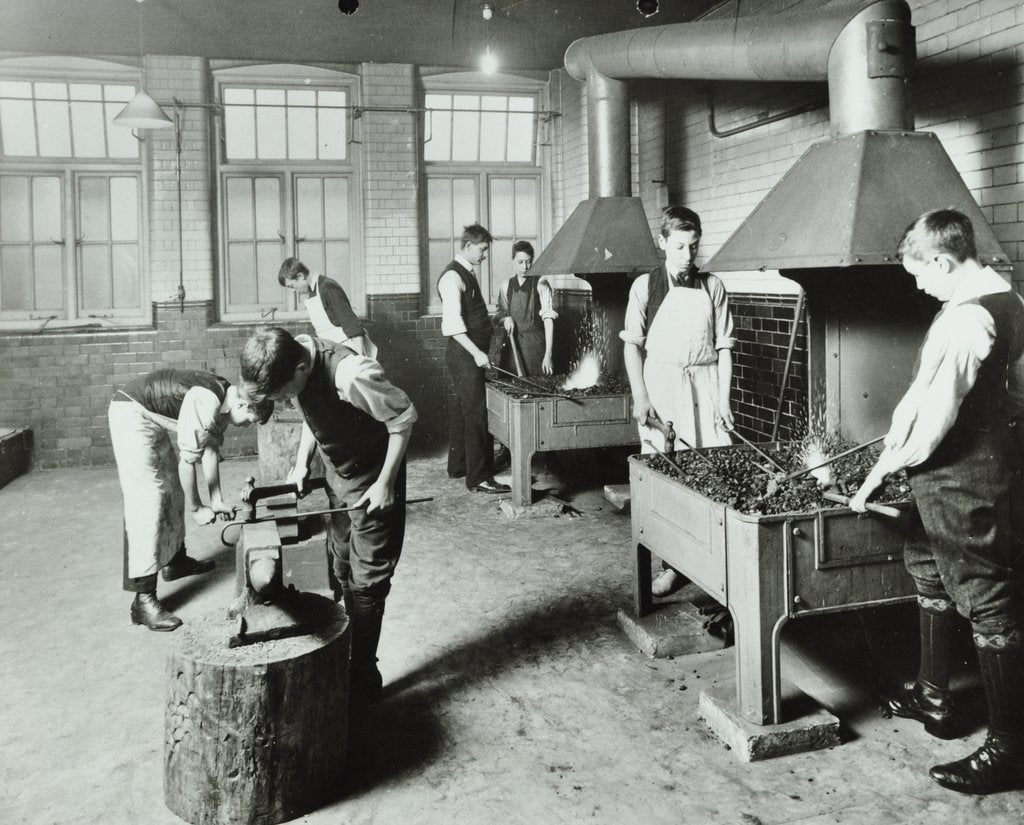
[[[158,370],[114,394],[108,420],[124,498],[124,589],[135,594],[133,624],[151,631],[181,624],[157,599],[157,572],[163,569],[164,580],[173,581],[213,569],[212,561],[185,553],[184,511],[200,525],[234,515],[220,494],[218,449],[224,430],[228,424],[265,422],[272,410],[272,403],[250,403],[219,376],[190,370]],[[209,506],[200,501],[198,464]]]

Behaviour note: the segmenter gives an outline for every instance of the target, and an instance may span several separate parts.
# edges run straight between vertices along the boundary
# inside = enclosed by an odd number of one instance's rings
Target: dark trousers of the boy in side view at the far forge
[[[474,487],[495,474],[494,440],[487,432],[485,371],[455,340],[449,339],[444,353],[455,385],[456,402],[449,412],[450,476],[466,475],[466,486]]]

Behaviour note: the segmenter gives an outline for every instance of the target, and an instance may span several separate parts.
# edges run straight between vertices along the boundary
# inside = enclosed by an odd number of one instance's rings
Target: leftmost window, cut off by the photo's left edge
[[[145,320],[139,142],[110,123],[134,77],[0,61],[0,325]]]

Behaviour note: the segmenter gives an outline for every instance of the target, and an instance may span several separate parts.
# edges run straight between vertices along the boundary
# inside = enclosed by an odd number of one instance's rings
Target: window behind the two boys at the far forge
[[[495,237],[477,275],[488,303],[511,273],[512,245],[540,252],[543,169],[538,160],[540,84],[505,91],[428,79],[423,159],[427,187],[427,275],[431,311],[437,279],[459,251],[462,228],[483,223]]]

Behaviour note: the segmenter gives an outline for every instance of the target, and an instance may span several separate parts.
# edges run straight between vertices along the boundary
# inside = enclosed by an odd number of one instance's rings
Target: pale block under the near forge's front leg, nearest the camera
[[[712,732],[742,762],[840,744],[839,720],[786,682],[782,683],[782,712],[787,720],[778,725],[755,725],[739,714],[735,677],[700,691],[698,712]]]

